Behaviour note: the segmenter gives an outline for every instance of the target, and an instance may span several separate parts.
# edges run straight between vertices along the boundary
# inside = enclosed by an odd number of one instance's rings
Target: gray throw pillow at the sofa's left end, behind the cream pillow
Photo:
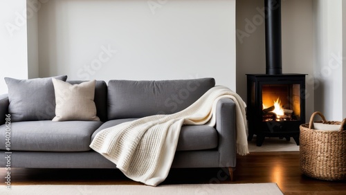
[[[54,77],[66,81],[67,76]],[[8,86],[8,113],[12,122],[52,120],[55,117],[55,94],[52,77],[17,80],[5,77]]]

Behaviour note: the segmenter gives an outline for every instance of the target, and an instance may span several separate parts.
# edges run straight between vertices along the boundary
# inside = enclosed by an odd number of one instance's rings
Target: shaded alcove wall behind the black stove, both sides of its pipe
[[[266,72],[264,1],[237,1],[237,93],[246,100],[246,73]],[[312,0],[282,1],[282,73],[307,75],[306,116],[313,112]]]

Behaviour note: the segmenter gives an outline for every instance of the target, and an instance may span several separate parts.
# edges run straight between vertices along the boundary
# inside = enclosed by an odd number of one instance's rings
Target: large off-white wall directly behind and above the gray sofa
[[[235,0],[52,0],[38,35],[40,77],[215,77],[235,90]]]

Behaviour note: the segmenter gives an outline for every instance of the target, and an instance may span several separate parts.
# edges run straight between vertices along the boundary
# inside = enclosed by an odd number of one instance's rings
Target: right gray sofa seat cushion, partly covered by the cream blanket
[[[136,120],[136,118],[117,119],[104,122],[104,124],[93,133],[91,140],[103,129],[132,120]],[[217,147],[217,139],[217,130],[214,127],[208,125],[186,125],[181,128],[176,151],[215,149]]]

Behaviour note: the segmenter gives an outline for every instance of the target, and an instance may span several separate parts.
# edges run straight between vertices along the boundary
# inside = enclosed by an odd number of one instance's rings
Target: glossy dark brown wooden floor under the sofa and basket
[[[284,194],[346,194],[346,181],[316,180],[302,175],[299,151],[253,152],[238,156],[235,181],[227,169],[172,169],[163,182],[194,183],[277,183]],[[0,168],[0,185],[6,170]],[[11,169],[12,185],[142,185],[129,180],[117,169]]]

